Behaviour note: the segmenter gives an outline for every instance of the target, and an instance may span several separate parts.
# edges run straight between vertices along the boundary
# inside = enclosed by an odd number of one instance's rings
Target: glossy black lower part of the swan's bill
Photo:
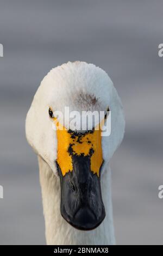
[[[91,171],[89,156],[72,155],[72,172],[64,176],[57,163],[61,184],[60,210],[62,217],[73,227],[91,230],[105,218],[99,175]]]

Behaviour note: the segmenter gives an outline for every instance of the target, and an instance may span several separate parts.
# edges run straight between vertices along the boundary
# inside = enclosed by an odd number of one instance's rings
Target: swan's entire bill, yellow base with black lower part
[[[78,133],[58,129],[57,138],[61,215],[78,229],[96,228],[105,217],[100,182],[101,131]]]

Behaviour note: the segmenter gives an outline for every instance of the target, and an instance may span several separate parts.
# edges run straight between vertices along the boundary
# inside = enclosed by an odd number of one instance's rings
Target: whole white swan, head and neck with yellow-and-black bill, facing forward
[[[63,123],[54,112],[64,113],[65,106],[79,113],[108,109],[110,136],[95,129],[101,120],[86,131],[74,129],[67,115]],[[27,113],[26,137],[39,162],[47,245],[115,245],[109,163],[124,126],[120,97],[96,65],[68,62],[43,78]]]

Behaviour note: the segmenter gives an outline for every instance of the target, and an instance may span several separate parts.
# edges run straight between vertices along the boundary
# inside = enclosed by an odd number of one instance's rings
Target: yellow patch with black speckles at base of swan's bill
[[[91,161],[91,171],[99,176],[99,169],[103,163],[101,129],[87,131],[86,133],[77,133],[66,130],[59,124],[57,118],[54,118],[57,126],[58,139],[58,157],[57,163],[60,166],[62,175],[72,172],[72,155],[89,156]]]

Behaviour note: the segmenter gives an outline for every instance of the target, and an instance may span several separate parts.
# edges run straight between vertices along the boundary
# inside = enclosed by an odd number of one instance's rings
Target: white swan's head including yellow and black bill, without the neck
[[[124,126],[120,97],[93,64],[62,64],[37,89],[26,118],[27,141],[59,176],[61,215],[73,227],[90,230],[104,220],[100,179]]]

